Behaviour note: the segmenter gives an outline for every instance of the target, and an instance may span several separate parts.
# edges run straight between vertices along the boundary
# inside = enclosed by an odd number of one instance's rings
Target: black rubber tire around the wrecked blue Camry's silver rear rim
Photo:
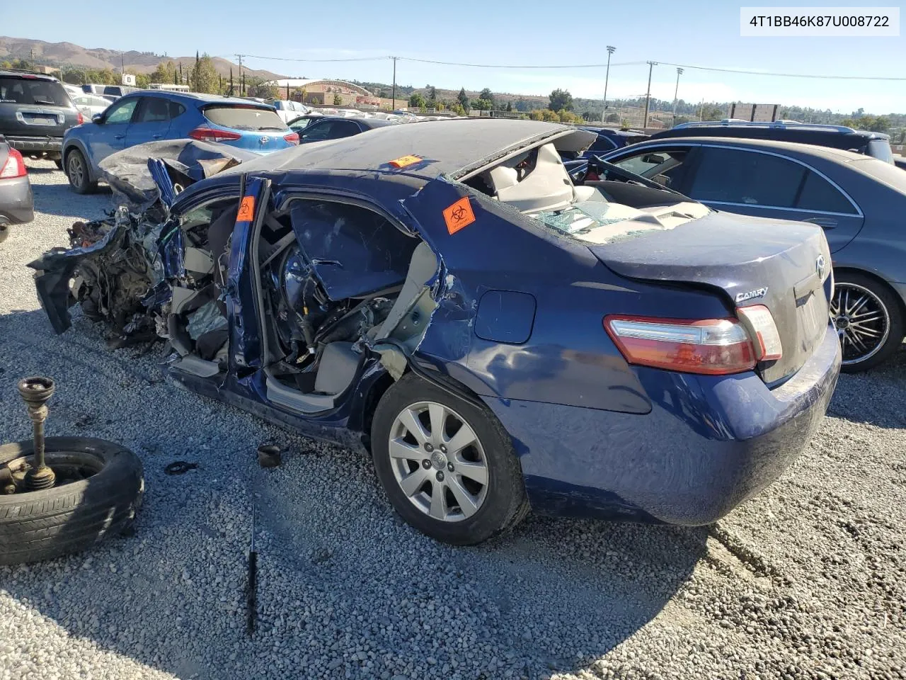
[[[438,403],[452,410],[477,435],[487,465],[487,491],[477,511],[470,517],[456,521],[434,519],[419,510],[400,488],[390,458],[390,433],[397,416],[419,402]],[[371,457],[378,480],[394,510],[412,527],[443,543],[461,546],[491,539],[515,527],[528,511],[522,469],[513,442],[494,413],[416,374],[404,375],[381,397],[371,423]],[[436,474],[433,470],[430,472]]]

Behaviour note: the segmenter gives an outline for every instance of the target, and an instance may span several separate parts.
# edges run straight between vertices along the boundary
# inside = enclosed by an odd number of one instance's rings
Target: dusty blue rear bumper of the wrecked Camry
[[[520,456],[533,509],[708,524],[775,481],[824,417],[840,372],[828,327],[814,355],[768,390],[756,374],[639,368],[651,413],[485,398]]]

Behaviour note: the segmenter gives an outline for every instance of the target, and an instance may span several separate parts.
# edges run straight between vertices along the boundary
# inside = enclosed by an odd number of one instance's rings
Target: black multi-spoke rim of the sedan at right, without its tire
[[[891,332],[891,316],[880,297],[866,287],[838,282],[831,318],[843,351],[843,364],[858,364],[876,355]]]

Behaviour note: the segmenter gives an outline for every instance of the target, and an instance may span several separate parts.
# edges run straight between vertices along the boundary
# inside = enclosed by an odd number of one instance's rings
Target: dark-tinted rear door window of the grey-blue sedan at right
[[[696,200],[793,208],[805,167],[755,151],[703,147],[689,190]]]

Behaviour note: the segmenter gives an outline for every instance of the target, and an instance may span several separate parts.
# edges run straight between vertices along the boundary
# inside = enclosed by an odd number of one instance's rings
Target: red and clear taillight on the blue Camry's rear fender
[[[604,329],[630,364],[723,375],[755,368],[756,348],[736,319],[604,317]]]

